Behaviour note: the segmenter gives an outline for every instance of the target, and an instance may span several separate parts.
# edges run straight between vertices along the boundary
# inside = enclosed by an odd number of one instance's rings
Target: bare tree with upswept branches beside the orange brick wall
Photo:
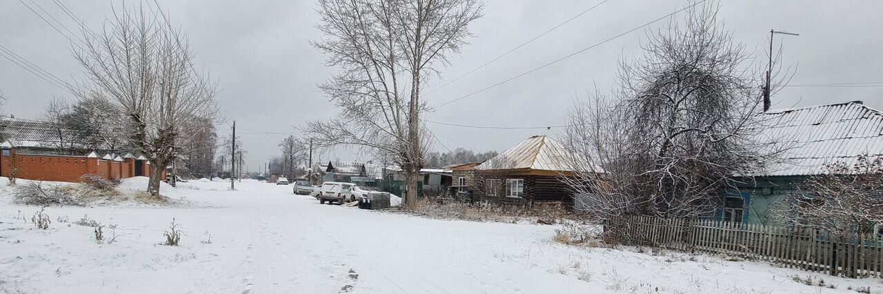
[[[162,11],[123,7],[99,34],[84,32],[83,39],[73,51],[87,79],[76,90],[125,117],[127,139],[151,162],[147,192],[159,196],[163,170],[189,139],[182,134],[192,132],[185,126],[198,125],[187,121],[215,119],[215,84],[193,69],[185,34]]]

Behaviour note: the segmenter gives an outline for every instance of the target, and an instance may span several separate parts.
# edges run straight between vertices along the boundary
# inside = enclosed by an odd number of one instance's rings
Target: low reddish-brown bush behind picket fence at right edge
[[[860,155],[856,162],[834,162],[825,172],[798,185],[775,215],[798,228],[827,230],[845,239],[873,233],[883,224],[883,157]]]

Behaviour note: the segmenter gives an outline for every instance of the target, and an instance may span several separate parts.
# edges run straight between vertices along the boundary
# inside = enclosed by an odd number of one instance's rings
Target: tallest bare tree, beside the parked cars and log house
[[[461,49],[481,11],[478,0],[319,0],[325,38],[313,46],[340,70],[320,88],[339,112],[301,129],[321,146],[356,146],[396,162],[404,203],[414,203],[431,138],[420,124],[422,83]]]

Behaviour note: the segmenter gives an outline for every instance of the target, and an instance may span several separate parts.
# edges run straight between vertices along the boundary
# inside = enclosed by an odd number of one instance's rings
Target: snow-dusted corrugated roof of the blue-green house
[[[883,113],[862,102],[773,109],[760,116],[766,127],[758,135],[780,139],[789,150],[784,162],[754,176],[816,175],[830,163],[883,155]]]

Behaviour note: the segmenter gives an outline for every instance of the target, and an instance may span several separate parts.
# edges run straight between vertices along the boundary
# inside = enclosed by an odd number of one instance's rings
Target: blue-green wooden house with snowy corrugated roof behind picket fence
[[[766,127],[759,135],[782,139],[790,148],[783,162],[736,177],[741,184],[724,195],[721,220],[766,223],[773,214],[771,204],[807,178],[824,173],[827,164],[853,164],[863,154],[883,155],[883,113],[862,102],[773,109],[760,116]]]

